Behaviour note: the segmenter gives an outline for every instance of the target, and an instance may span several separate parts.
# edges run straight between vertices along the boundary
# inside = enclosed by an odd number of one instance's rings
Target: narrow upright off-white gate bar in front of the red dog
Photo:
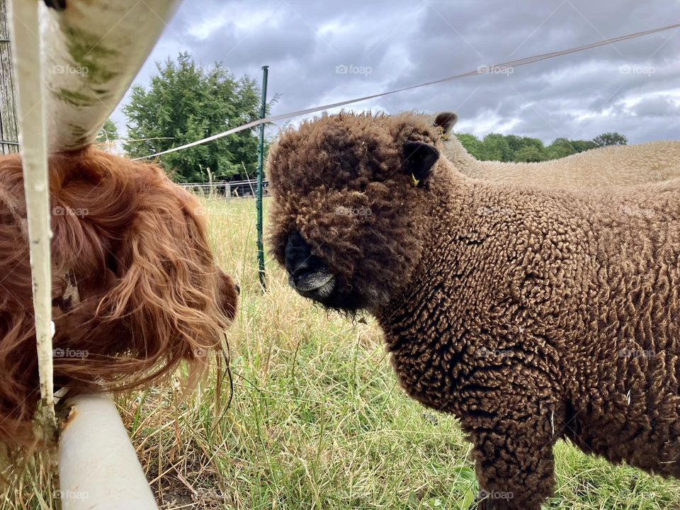
[[[30,276],[45,435],[56,431],[52,383],[52,271],[50,264],[50,187],[47,181],[45,102],[41,83],[38,3],[12,0],[11,36],[18,95],[18,130],[26,195]]]

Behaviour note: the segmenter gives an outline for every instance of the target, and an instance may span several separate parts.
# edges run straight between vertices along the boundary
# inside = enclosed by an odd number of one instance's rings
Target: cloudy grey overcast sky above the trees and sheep
[[[269,96],[280,95],[277,115],[672,23],[680,23],[679,1],[186,0],[135,83],[146,86],[154,62],[181,51],[258,81],[268,64]],[[478,136],[502,132],[551,142],[618,131],[632,143],[677,140],[680,33],[346,108],[455,111],[456,130]],[[124,132],[120,107],[113,120]]]

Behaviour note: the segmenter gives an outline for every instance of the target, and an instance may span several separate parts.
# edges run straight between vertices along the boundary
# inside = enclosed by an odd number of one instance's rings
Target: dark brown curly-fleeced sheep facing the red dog
[[[271,246],[290,285],[378,319],[408,394],[474,442],[482,508],[539,509],[558,438],[680,477],[680,181],[502,185],[439,139],[411,114],[283,132]]]

